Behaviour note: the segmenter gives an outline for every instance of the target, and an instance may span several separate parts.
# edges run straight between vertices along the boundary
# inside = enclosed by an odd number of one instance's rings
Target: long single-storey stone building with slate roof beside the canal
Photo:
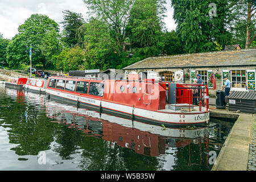
[[[220,90],[224,76],[232,82],[231,91],[255,90],[256,49],[184,54],[174,56],[148,57],[123,68],[125,75],[130,72],[155,71],[163,81],[177,81],[176,72],[182,72],[183,82],[191,84],[199,73],[207,84],[213,72],[216,74],[217,89]],[[212,88],[209,82],[208,88]],[[216,90],[209,89],[210,95]]]

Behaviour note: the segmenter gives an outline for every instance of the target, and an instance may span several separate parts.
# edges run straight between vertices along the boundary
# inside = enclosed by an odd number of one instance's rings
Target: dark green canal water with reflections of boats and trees
[[[0,85],[0,170],[210,170],[233,124],[164,128]]]

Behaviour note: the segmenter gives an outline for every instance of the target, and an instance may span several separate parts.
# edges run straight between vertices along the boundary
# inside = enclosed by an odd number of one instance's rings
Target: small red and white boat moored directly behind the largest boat
[[[48,80],[44,78],[28,78],[24,89],[32,92],[46,93],[47,82]]]

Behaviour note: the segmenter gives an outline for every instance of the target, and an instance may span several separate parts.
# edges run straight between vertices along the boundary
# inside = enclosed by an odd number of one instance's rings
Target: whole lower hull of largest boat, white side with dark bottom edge
[[[201,112],[189,113],[167,113],[164,111],[153,111],[133,107],[131,105],[120,104],[117,102],[98,100],[93,97],[77,96],[75,94],[68,94],[64,92],[57,92],[55,90],[46,89],[49,98],[57,99],[64,102],[69,102],[79,107],[93,109],[102,113],[114,114],[119,117],[134,119],[153,125],[170,126],[184,126],[184,125],[203,125],[209,121],[209,110]]]

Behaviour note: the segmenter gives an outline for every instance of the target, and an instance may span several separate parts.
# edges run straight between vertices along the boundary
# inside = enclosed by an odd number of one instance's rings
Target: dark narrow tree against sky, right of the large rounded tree
[[[64,42],[68,44],[69,47],[73,47],[76,45],[76,31],[79,27],[84,24],[84,18],[82,18],[82,14],[75,13],[69,10],[62,11],[63,13],[63,34],[64,34]]]

